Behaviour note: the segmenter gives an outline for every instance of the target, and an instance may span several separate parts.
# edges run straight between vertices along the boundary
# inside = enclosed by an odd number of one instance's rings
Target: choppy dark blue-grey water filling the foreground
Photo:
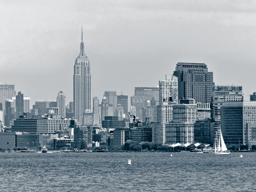
[[[0,191],[256,191],[255,160],[256,153],[0,153]]]

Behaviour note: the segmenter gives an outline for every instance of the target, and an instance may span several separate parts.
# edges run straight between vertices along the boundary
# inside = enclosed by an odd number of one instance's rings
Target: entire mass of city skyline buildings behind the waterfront
[[[83,35],[74,62],[73,101],[37,100],[0,84],[0,147],[120,148],[127,140],[256,145],[256,92],[244,101],[242,86],[215,85],[204,63],[177,63],[158,86],[135,87],[134,95],[104,91],[92,97],[91,65]],[[184,145],[185,146],[185,145]]]

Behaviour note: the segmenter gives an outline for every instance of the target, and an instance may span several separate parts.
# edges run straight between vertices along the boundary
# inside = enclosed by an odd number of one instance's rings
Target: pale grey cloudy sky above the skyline
[[[0,0],[0,83],[36,100],[73,101],[81,26],[92,97],[156,87],[178,62],[205,63],[216,85],[256,91],[256,1]]]

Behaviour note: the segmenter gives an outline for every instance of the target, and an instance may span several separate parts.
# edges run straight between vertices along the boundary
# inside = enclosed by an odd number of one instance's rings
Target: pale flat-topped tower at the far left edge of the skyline
[[[0,83],[0,103],[2,106],[3,115],[5,115],[5,100],[12,99],[12,97],[15,97],[16,91],[14,89],[14,85],[8,85],[8,84],[1,84]]]

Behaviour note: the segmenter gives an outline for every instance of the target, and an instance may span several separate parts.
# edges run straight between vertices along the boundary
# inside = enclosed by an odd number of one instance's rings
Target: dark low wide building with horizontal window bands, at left
[[[39,118],[27,118],[20,116],[13,121],[11,126],[12,132],[28,132],[29,134],[37,134],[37,120]]]

